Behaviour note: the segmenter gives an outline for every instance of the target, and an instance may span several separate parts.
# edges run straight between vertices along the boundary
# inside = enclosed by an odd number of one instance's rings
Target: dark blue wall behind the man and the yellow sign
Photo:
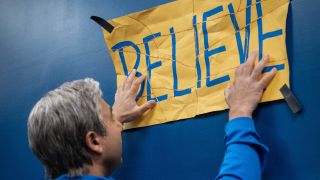
[[[42,179],[27,142],[27,117],[47,91],[93,77],[113,103],[115,71],[91,15],[114,18],[169,0],[0,0],[0,179]],[[320,50],[315,0],[289,8],[287,47],[292,89],[304,106],[266,103],[256,126],[271,149],[263,179],[320,179]],[[224,153],[226,112],[123,133],[124,163],[116,179],[213,179]]]

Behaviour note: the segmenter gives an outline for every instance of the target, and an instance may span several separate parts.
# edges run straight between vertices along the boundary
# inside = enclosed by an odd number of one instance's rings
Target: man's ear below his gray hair
[[[102,137],[94,131],[87,132],[86,145],[92,152],[97,154],[101,154],[103,152]]]

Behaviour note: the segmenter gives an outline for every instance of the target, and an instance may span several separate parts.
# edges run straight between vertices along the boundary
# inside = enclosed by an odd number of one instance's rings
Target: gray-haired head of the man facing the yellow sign
[[[122,127],[101,96],[99,83],[87,78],[61,85],[33,107],[29,146],[47,176],[82,175],[93,165],[106,175],[121,163]]]

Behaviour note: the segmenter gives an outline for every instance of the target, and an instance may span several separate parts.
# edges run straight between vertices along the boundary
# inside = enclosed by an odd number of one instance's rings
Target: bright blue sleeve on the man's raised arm
[[[238,117],[225,126],[226,152],[216,180],[261,179],[269,149],[259,142],[251,118]]]

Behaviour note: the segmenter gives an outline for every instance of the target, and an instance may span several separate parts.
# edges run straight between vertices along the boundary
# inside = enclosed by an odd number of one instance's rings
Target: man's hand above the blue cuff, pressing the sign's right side
[[[264,89],[277,72],[277,69],[273,68],[262,77],[269,56],[264,56],[255,66],[256,58],[256,51],[250,53],[247,62],[237,68],[233,84],[225,89],[225,99],[230,108],[229,120],[236,117],[252,117]]]

